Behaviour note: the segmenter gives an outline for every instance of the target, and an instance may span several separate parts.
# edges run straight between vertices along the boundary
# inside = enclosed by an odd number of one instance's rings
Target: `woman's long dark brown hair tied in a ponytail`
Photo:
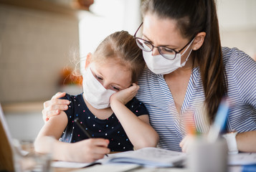
[[[205,105],[212,122],[222,97],[227,93],[227,80],[222,60],[219,23],[214,0],[146,0],[143,15],[156,14],[160,19],[175,19],[184,38],[191,40],[206,32],[204,44],[193,51],[193,66],[199,65],[204,86]]]

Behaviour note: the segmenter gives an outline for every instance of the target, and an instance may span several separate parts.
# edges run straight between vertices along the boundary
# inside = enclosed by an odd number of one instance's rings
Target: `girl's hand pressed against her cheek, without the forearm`
[[[131,87],[115,92],[110,97],[110,105],[113,103],[113,101],[116,101],[116,100],[121,102],[123,105],[125,105],[127,102],[132,100],[133,97],[136,96],[138,89],[139,89],[139,86],[136,85],[136,83],[133,83]]]

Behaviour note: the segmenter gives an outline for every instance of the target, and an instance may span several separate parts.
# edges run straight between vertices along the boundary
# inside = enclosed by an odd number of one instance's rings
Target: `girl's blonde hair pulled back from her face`
[[[131,82],[138,81],[145,67],[142,51],[127,31],[114,32],[106,37],[95,50],[92,61],[104,62],[109,58],[131,69]]]

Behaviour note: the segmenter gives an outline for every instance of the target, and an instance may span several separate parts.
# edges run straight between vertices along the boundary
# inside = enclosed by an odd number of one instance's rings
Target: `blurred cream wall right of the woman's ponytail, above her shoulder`
[[[222,46],[237,47],[256,59],[256,1],[218,0]]]

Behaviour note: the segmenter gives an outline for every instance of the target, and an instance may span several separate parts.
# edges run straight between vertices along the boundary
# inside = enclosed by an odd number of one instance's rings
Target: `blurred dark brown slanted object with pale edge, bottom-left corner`
[[[0,171],[14,171],[14,148],[11,133],[0,104]]]

